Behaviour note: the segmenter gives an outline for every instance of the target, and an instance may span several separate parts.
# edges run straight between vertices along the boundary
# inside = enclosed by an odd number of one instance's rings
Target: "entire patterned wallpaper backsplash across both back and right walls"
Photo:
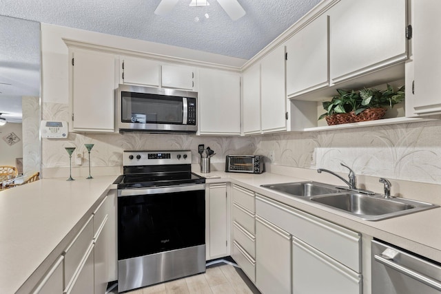
[[[68,105],[44,103],[43,119],[68,120]],[[438,184],[441,181],[441,122],[438,120],[362,127],[327,132],[280,133],[252,137],[163,134],[74,134],[68,140],[43,140],[43,167],[68,167],[63,147],[77,147],[87,157],[85,143],[95,144],[93,166],[121,166],[126,149],[191,149],[199,162],[198,145],[216,151],[212,162],[227,154],[262,154],[274,151],[275,165],[382,176]],[[87,164],[87,162],[86,162]]]

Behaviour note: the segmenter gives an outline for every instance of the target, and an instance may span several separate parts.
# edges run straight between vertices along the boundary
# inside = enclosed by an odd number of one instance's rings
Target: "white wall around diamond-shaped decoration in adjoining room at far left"
[[[15,167],[15,158],[23,157],[23,136],[21,135],[21,123],[7,123],[0,127],[0,165],[11,165]],[[10,146],[3,140],[4,136],[8,136],[13,132],[20,140],[18,143]]]

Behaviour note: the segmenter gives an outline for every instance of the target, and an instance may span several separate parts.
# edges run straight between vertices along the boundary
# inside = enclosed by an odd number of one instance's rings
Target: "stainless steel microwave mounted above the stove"
[[[116,122],[120,132],[196,133],[198,93],[119,85]]]

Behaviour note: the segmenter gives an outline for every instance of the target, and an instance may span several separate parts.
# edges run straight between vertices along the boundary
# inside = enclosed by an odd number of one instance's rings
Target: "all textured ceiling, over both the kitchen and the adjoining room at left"
[[[21,96],[39,96],[39,23],[32,21],[250,59],[320,2],[238,0],[246,14],[232,21],[207,1],[178,0],[159,16],[161,0],[0,0],[0,112],[10,113],[2,117],[21,121]]]

